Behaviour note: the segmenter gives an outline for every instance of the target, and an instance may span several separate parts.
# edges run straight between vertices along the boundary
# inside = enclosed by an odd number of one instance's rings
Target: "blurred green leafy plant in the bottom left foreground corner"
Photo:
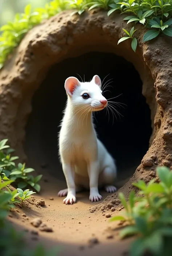
[[[6,147],[7,148],[7,147]],[[30,195],[35,192],[29,190],[17,190],[11,191],[8,187],[9,184],[14,182],[7,178],[3,172],[3,168],[0,168],[0,252],[1,256],[57,256],[59,248],[46,251],[42,245],[38,245],[34,250],[26,249],[26,245],[23,241],[24,233],[18,233],[5,218],[8,215],[8,211],[15,207],[15,203],[23,203],[26,199],[30,198]],[[17,198],[21,199],[18,200]],[[10,246],[9,246],[10,245]]]

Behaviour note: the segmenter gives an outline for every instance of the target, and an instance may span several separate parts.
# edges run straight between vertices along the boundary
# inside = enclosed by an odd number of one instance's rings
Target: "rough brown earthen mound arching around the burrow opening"
[[[136,24],[135,35],[139,44],[136,53],[131,50],[130,40],[117,46],[119,38],[124,36],[122,28],[131,28],[131,25],[124,23],[123,17],[124,15],[115,15],[109,18],[106,12],[96,11],[85,13],[82,17],[71,17],[70,11],[66,11],[32,29],[0,72],[0,139],[8,138],[21,160],[27,160],[24,153],[25,127],[32,112],[32,97],[50,68],[66,59],[89,52],[108,52],[122,56],[132,62],[140,75],[142,94],[151,110],[152,126],[150,147],[134,176],[121,188],[128,196],[133,189],[132,182],[138,179],[148,182],[152,176],[156,176],[157,166],[172,165],[172,39],[161,36],[158,40],[142,45],[145,29]],[[58,70],[57,75],[61,76]],[[132,79],[132,75],[127,77],[126,83]],[[63,84],[57,84],[57,87],[60,88]],[[61,104],[61,98],[58,98],[58,102]],[[41,124],[35,130],[40,127]],[[127,131],[128,127],[126,133]],[[140,133],[141,138],[144,131],[140,130]],[[28,136],[33,140],[37,134],[33,131],[33,135],[30,133]],[[137,138],[138,145],[140,138]],[[34,161],[37,161],[35,154],[40,154],[40,148],[41,144],[38,143],[37,151],[32,155]],[[44,159],[45,154],[41,157]],[[46,162],[41,163],[44,164]],[[36,163],[36,167],[40,168],[40,163]],[[118,203],[116,194],[108,196],[99,206],[91,208],[91,211],[101,210],[102,207],[110,210],[120,208],[120,203],[119,206],[116,205]]]

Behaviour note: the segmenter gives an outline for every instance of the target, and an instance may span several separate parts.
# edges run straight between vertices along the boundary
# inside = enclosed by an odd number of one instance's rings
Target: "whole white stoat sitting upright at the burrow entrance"
[[[91,202],[99,201],[98,186],[115,192],[116,165],[107,149],[97,138],[92,112],[104,109],[107,100],[102,95],[101,79],[79,82],[75,77],[65,81],[67,105],[61,123],[59,153],[67,188],[58,192],[66,196],[65,204],[76,202],[76,192],[90,188]]]

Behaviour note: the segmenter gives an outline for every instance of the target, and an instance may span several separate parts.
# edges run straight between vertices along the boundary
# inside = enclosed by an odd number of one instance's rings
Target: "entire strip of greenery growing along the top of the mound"
[[[0,68],[24,35],[42,20],[49,19],[66,9],[75,9],[71,15],[81,15],[86,9],[90,11],[94,8],[107,10],[108,16],[115,11],[131,14],[124,18],[127,24],[140,23],[150,29],[145,33],[143,42],[152,40],[161,33],[172,36],[172,0],[53,0],[47,3],[45,8],[36,8],[33,12],[29,4],[25,7],[24,13],[17,13],[13,22],[9,21],[0,29]],[[136,39],[133,42],[132,49],[135,49]]]

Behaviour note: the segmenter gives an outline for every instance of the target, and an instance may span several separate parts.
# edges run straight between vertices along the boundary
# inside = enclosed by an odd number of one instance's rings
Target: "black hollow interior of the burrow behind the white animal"
[[[119,103],[112,105],[120,114],[116,111],[112,114],[110,109],[109,116],[106,110],[95,113],[95,125],[99,138],[116,159],[118,179],[126,179],[148,150],[151,118],[138,72],[130,62],[112,53],[90,52],[50,68],[33,96],[33,110],[26,126],[24,148],[29,165],[36,170],[46,168],[50,174],[64,180],[58,159],[57,133],[66,102],[65,79],[75,76],[81,81],[78,74],[85,81],[95,74],[102,81],[106,77],[103,85],[112,87],[105,88],[105,97],[116,97],[111,101],[122,103],[122,107]]]

